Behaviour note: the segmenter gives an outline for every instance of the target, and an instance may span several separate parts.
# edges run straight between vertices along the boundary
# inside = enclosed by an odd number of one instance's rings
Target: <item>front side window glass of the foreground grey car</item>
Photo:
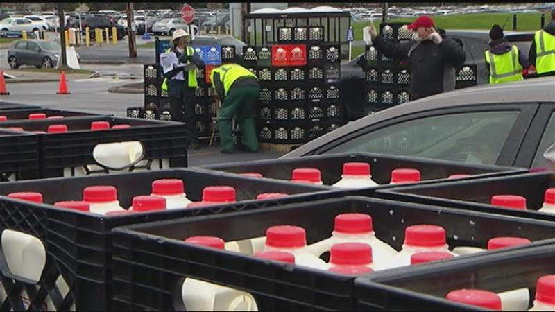
[[[326,153],[381,153],[495,164],[518,111],[429,116],[368,132]]]

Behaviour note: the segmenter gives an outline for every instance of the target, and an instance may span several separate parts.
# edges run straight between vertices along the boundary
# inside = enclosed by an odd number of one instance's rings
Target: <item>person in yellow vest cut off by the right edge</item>
[[[528,58],[538,76],[555,74],[555,9],[551,11],[551,22],[534,34]]]

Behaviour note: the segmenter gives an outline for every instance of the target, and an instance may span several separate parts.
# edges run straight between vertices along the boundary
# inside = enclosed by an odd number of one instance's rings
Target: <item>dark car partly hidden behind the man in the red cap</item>
[[[462,42],[466,53],[466,64],[477,65],[477,83],[479,85],[488,83],[489,72],[484,62],[484,52],[488,49],[488,31],[447,31],[447,35]],[[518,46],[522,53],[528,55],[533,33],[506,31],[505,37],[509,42]],[[362,54],[358,55],[350,62],[341,64],[341,98],[343,98],[349,120],[364,116],[365,94],[361,92],[366,85],[362,69],[363,56]]]

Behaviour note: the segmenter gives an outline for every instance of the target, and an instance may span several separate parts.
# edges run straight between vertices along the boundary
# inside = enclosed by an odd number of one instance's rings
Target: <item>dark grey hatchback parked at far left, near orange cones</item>
[[[53,40],[17,40],[8,49],[8,64],[12,69],[21,65],[52,68],[58,63],[62,47]],[[77,59],[80,60],[79,54]]]

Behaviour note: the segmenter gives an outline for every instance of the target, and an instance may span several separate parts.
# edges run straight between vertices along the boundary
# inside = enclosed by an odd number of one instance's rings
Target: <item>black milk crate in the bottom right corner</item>
[[[512,227],[513,225],[507,225]],[[493,229],[499,229],[492,224]],[[526,235],[524,235],[526,236]],[[555,273],[555,244],[533,243],[527,248],[483,252],[472,257],[399,268],[355,279],[358,311],[485,311],[445,299],[449,291],[479,288],[500,293],[520,288],[531,291],[539,277]]]

